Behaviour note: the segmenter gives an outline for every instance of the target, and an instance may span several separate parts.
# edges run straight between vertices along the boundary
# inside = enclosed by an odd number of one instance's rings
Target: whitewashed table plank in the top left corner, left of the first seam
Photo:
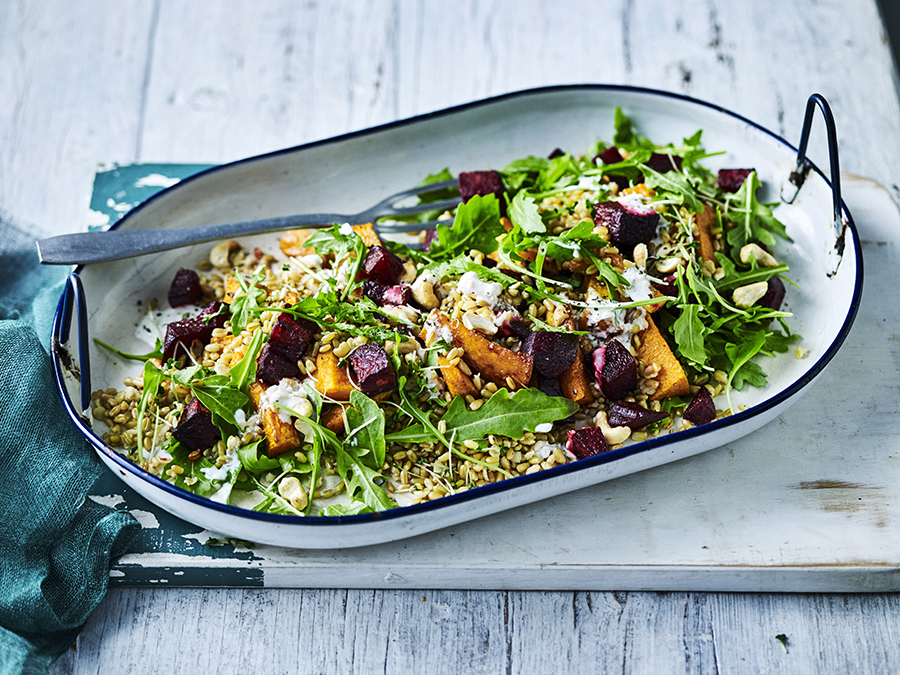
[[[7,3],[0,18],[0,208],[83,227],[96,165],[134,160],[152,3]]]

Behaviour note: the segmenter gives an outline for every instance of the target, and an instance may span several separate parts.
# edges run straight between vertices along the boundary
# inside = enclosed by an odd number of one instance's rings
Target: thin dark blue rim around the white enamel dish
[[[178,184],[166,188],[150,197],[146,201],[142,202],[134,209],[129,211],[125,216],[123,216],[118,222],[116,222],[110,229],[119,227],[122,223],[128,221],[134,215],[140,213],[144,208],[154,203],[158,199],[165,198],[172,190],[177,190],[181,186],[188,185],[194,180],[198,180],[212,173],[216,173],[218,171],[222,171],[225,169],[230,169],[235,166],[239,166],[242,164],[247,164],[251,162],[258,162],[261,160],[266,160],[272,157],[278,157],[281,155],[293,154],[296,152],[309,150],[311,148],[316,148],[320,146],[330,145],[336,142],[346,141],[357,137],[363,137],[368,135],[373,135],[379,132],[383,132],[389,129],[396,129],[403,126],[409,126],[418,122],[422,122],[430,119],[437,119],[440,117],[447,117],[459,112],[463,112],[466,110],[470,110],[473,108],[479,108],[483,106],[488,106],[491,104],[499,103],[502,101],[507,101],[515,98],[528,97],[534,95],[542,95],[542,94],[553,94],[553,93],[566,93],[566,92],[578,92],[578,91],[594,91],[594,92],[622,92],[628,94],[640,94],[646,96],[657,96],[661,98],[669,98],[678,101],[682,101],[685,103],[698,105],[703,108],[707,108],[716,112],[719,112],[727,117],[730,117],[734,120],[742,122],[753,129],[756,129],[759,132],[771,137],[776,140],[778,143],[784,145],[786,148],[792,150],[794,153],[797,153],[797,148],[786,141],[781,136],[775,134],[774,132],[766,129],[765,127],[756,124],[755,122],[738,115],[726,108],[723,108],[714,103],[709,103],[706,101],[702,101],[699,99],[692,98],[690,96],[685,96],[683,94],[677,94],[674,92],[667,92],[658,89],[648,89],[644,87],[634,87],[629,85],[613,85],[613,84],[572,84],[572,85],[556,85],[549,87],[536,87],[532,89],[524,89],[514,92],[509,92],[506,94],[501,94],[498,96],[493,96],[490,98],[479,99],[477,101],[471,101],[469,103],[464,103],[461,105],[453,106],[450,108],[445,108],[442,110],[437,110],[430,113],[425,113],[422,115],[417,115],[415,117],[409,117],[401,120],[397,120],[394,122],[389,122],[386,124],[378,125],[375,127],[369,127],[367,129],[361,129],[359,131],[350,132],[347,134],[341,134],[339,136],[333,136],[331,138],[326,138],[318,141],[313,141],[311,143],[304,143],[302,145],[293,146],[290,148],[284,148],[282,150],[276,150],[273,152],[255,155],[253,157],[247,157],[244,159],[240,159],[234,162],[229,162],[228,164],[222,164],[220,166],[211,167],[209,169],[205,169],[197,174],[194,174],[184,180],[180,181]],[[825,181],[826,185],[831,186],[831,182],[828,178],[822,173],[822,171],[812,162],[810,162],[811,169],[816,172],[823,181]],[[862,281],[863,281],[863,261],[862,261],[862,248],[859,241],[859,236],[856,231],[856,226],[853,222],[853,218],[850,215],[849,210],[847,209],[846,204],[841,201],[841,209],[844,217],[847,220],[847,232],[850,233],[852,242],[853,242],[853,252],[856,260],[856,278],[854,279],[854,288],[853,288],[853,297],[850,303],[850,310],[847,313],[847,316],[844,318],[844,322],[841,325],[840,330],[837,333],[837,336],[832,341],[831,345],[827,350],[822,354],[822,356],[816,361],[816,363],[806,371],[806,373],[800,377],[798,380],[794,381],[789,387],[787,387],[784,391],[767,398],[760,403],[752,406],[751,408],[739,411],[730,415],[726,418],[715,420],[713,422],[709,422],[699,427],[693,427],[691,429],[686,429],[684,431],[673,432],[667,434],[665,436],[658,436],[656,438],[647,439],[645,441],[641,441],[639,443],[634,443],[632,445],[619,448],[616,450],[610,450],[609,452],[603,453],[601,455],[595,455],[593,457],[588,457],[586,459],[580,459],[574,462],[568,462],[566,464],[562,464],[559,466],[551,467],[550,469],[545,469],[543,471],[539,471],[530,475],[522,475],[515,476],[513,478],[507,478],[502,481],[498,481],[496,483],[489,483],[484,486],[480,486],[477,488],[472,488],[462,493],[456,493],[452,495],[447,495],[442,497],[441,499],[434,501],[426,501],[419,502],[418,504],[413,504],[410,506],[403,506],[394,509],[389,509],[387,511],[378,511],[375,513],[364,513],[364,514],[354,514],[354,515],[345,515],[345,516],[293,516],[293,515],[283,515],[283,514],[270,514],[270,513],[260,513],[257,511],[251,511],[246,508],[242,508],[239,506],[232,506],[229,504],[221,504],[219,502],[214,502],[208,497],[201,497],[192,492],[188,492],[179,487],[168,483],[158,476],[155,476],[144,469],[141,469],[136,464],[133,464],[128,459],[118,454],[112,448],[108,447],[103,440],[94,432],[94,430],[87,424],[87,422],[82,418],[81,412],[76,410],[72,401],[69,398],[68,391],[65,384],[65,375],[64,375],[64,366],[62,363],[62,359],[60,355],[54,349],[53,353],[53,371],[54,377],[56,380],[57,389],[62,398],[63,405],[66,408],[66,411],[69,414],[69,417],[72,419],[76,427],[81,431],[81,433],[87,438],[87,440],[91,443],[91,445],[96,448],[97,451],[102,452],[106,457],[111,459],[121,470],[128,471],[131,474],[134,474],[136,477],[139,477],[143,480],[148,481],[150,484],[154,485],[157,488],[164,490],[165,492],[171,494],[174,497],[179,499],[184,499],[188,502],[192,502],[198,506],[202,506],[205,508],[213,509],[215,511],[221,512],[223,514],[228,514],[232,516],[238,516],[241,518],[247,518],[256,521],[262,522],[270,522],[277,523],[283,525],[299,525],[299,526],[307,526],[307,527],[317,527],[317,526],[334,526],[336,524],[342,525],[368,525],[372,523],[378,522],[388,522],[392,520],[397,520],[399,518],[408,518],[414,517],[419,514],[430,513],[439,509],[447,509],[454,506],[459,506],[465,503],[470,502],[473,499],[478,499],[481,497],[487,497],[490,495],[501,494],[504,492],[509,492],[511,490],[517,490],[519,488],[524,488],[529,485],[545,482],[550,480],[559,479],[573,472],[583,472],[585,470],[596,468],[604,464],[609,464],[615,462],[620,459],[624,459],[626,457],[630,457],[632,455],[636,455],[639,453],[647,452],[656,448],[665,447],[666,445],[671,445],[674,442],[690,440],[692,438],[696,438],[699,436],[704,436],[706,434],[712,433],[717,430],[726,429],[728,427],[732,427],[742,422],[745,422],[753,417],[757,417],[766,411],[769,411],[777,406],[782,405],[788,399],[792,398],[796,394],[800,392],[801,389],[806,387],[813,379],[825,368],[825,366],[831,361],[837,351],[840,349],[844,340],[846,339],[848,333],[850,332],[850,328],[853,325],[853,321],[856,318],[857,310],[859,308],[859,301],[862,296]],[[846,234],[845,234],[846,237]],[[845,251],[845,255],[849,251]],[[77,274],[80,270],[83,269],[82,266],[78,266],[74,273]],[[71,292],[69,289],[72,284],[66,284],[66,292]],[[53,322],[53,341],[54,344],[58,344],[61,340],[60,337],[62,334],[68,333],[68,327],[63,325],[63,308],[66,305],[66,295],[63,294],[63,297],[60,298],[59,307],[56,312],[56,316],[54,317]],[[88,374],[89,375],[89,374]]]

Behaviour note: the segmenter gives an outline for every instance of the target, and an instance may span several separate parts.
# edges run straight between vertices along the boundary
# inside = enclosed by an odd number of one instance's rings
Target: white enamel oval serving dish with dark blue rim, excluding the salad
[[[789,184],[797,168],[796,148],[702,101],[611,85],[516,92],[210,169],[158,193],[115,227],[188,227],[294,213],[352,213],[443,167],[457,175],[501,168],[518,157],[546,155],[556,147],[587,148],[598,138],[611,138],[616,107],[658,143],[677,142],[702,129],[708,151],[725,151],[705,165],[713,170],[755,167],[764,186],[762,201],[778,202],[782,193],[796,193],[792,203],[780,204],[775,212],[793,240],[780,243],[777,254],[800,286],[789,288],[785,308],[794,313],[791,327],[802,336],[808,356],[768,359],[768,386],[734,392],[735,414],[532,475],[379,513],[303,518],[199,497],[109,448],[100,437],[102,430],[92,428],[88,408],[91,387],[118,387],[135,373],[134,362],[100,350],[92,338],[125,351],[146,351],[136,336],[141,301],[164,297],[177,269],[193,267],[208,254],[210,244],[200,244],[75,270],[53,328],[55,376],[69,415],[110,470],[161,508],[215,532],[294,548],[364,546],[430,532],[696,455],[754,431],[794,403],[843,343],[862,292],[860,243],[843,204],[839,209],[844,227],[836,241],[834,192],[819,169],[810,165],[799,192]],[[278,236],[246,237],[242,243],[277,249]],[[836,244],[842,250],[839,259]],[[70,329],[73,320],[77,327]]]

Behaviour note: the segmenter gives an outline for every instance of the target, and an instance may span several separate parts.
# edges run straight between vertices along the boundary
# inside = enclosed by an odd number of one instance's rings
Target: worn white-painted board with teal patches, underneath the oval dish
[[[552,590],[900,590],[900,212],[845,174],[865,286],[846,343],[760,431],[681,462],[413,539],[336,551],[207,547],[183,524],[124,585]],[[115,495],[101,497],[108,503]],[[149,531],[166,517],[138,509]],[[145,510],[147,509],[147,510]],[[157,515],[159,516],[157,518]],[[152,541],[151,537],[151,541]],[[177,551],[177,552],[176,552]]]

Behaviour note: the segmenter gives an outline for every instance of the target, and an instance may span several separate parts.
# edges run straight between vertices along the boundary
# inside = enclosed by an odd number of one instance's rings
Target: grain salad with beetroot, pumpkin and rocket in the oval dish
[[[152,351],[97,341],[143,369],[94,392],[92,416],[167,482],[302,516],[440,499],[728,416],[799,336],[785,228],[753,169],[713,173],[710,156],[699,131],[656,145],[617,110],[612,143],[460,173],[459,206],[418,216],[445,223],[411,245],[371,223],[218,243],[148,299]]]

